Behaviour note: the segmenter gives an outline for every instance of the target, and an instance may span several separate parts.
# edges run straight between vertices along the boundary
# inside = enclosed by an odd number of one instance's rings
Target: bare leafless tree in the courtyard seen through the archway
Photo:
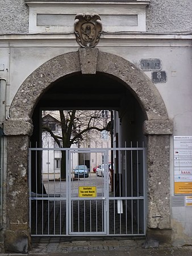
[[[58,113],[58,112],[57,112]],[[70,148],[89,137],[91,130],[110,131],[110,116],[101,110],[59,110],[60,133],[53,131],[48,123],[42,123],[42,131],[47,131],[59,147]],[[61,151],[61,179],[66,178],[66,151]]]

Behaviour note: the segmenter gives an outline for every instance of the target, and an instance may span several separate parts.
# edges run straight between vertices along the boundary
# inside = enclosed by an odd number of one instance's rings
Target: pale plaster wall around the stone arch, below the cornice
[[[7,42],[0,40],[1,64],[5,65],[4,71],[0,71],[0,76],[7,77],[8,84],[10,84],[8,85],[10,96],[7,94],[6,99],[4,81],[1,81],[1,121],[5,116],[4,101],[7,101],[7,105],[11,103],[19,86],[36,68],[52,57],[78,50],[72,38],[71,44],[67,43],[68,39],[61,40],[57,36],[51,41],[43,37],[41,40],[34,41],[25,40],[25,36],[23,36],[23,41],[9,38],[7,36]],[[8,39],[11,40],[11,44],[8,43]],[[192,135],[191,46],[189,36],[169,36],[169,38],[160,35],[124,36],[124,38],[115,36],[110,38],[109,36],[107,39],[107,36],[103,35],[98,48],[99,51],[122,56],[138,68],[140,59],[161,59],[162,70],[166,71],[168,80],[165,83],[155,84],[155,86],[165,102],[169,118],[173,119],[173,135]],[[143,72],[151,79],[151,71]],[[170,195],[174,195],[172,138],[170,143]],[[173,228],[177,227],[174,232],[176,241],[181,242],[180,237],[183,233],[191,237],[192,222],[189,216],[192,215],[192,208],[173,207],[172,214]],[[190,238],[187,239],[190,240]]]

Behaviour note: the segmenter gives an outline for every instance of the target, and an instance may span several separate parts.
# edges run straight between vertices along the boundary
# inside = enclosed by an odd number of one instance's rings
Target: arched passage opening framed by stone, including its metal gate
[[[53,130],[61,119],[50,113],[61,110],[98,112],[102,118],[110,113],[110,130],[100,134],[103,143],[93,140],[93,146],[89,138],[88,142],[79,139],[63,147],[61,139],[60,146],[55,143],[46,147],[42,124],[49,122]],[[32,119],[31,235],[143,236],[146,141],[142,124],[146,117],[132,92],[115,77],[76,73],[49,86],[37,103]],[[104,145],[107,135],[110,141]],[[64,179],[62,155],[65,155]],[[83,173],[80,170],[76,173],[75,166],[84,166]],[[97,167],[95,172],[93,167]]]

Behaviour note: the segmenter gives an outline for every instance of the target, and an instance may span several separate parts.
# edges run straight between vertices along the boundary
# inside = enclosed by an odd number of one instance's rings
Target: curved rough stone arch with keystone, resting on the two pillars
[[[87,51],[87,54],[86,52]],[[93,50],[92,50],[93,51]],[[155,85],[149,78],[130,61],[111,53],[99,52],[95,49],[96,72],[114,76],[130,89],[139,101],[146,119],[168,119],[164,101]],[[10,108],[11,118],[31,118],[33,110],[43,93],[57,79],[69,74],[95,73],[88,64],[95,63],[93,58],[89,61],[80,61],[82,53],[86,56],[91,53],[90,49],[77,52],[65,53],[54,57],[37,68],[20,86]],[[96,54],[97,53],[97,54]],[[95,64],[94,64],[95,65]]]

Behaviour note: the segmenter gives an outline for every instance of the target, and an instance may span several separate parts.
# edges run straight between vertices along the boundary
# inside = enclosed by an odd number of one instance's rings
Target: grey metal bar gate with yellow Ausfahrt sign
[[[144,147],[30,148],[29,184],[32,236],[145,235]]]

